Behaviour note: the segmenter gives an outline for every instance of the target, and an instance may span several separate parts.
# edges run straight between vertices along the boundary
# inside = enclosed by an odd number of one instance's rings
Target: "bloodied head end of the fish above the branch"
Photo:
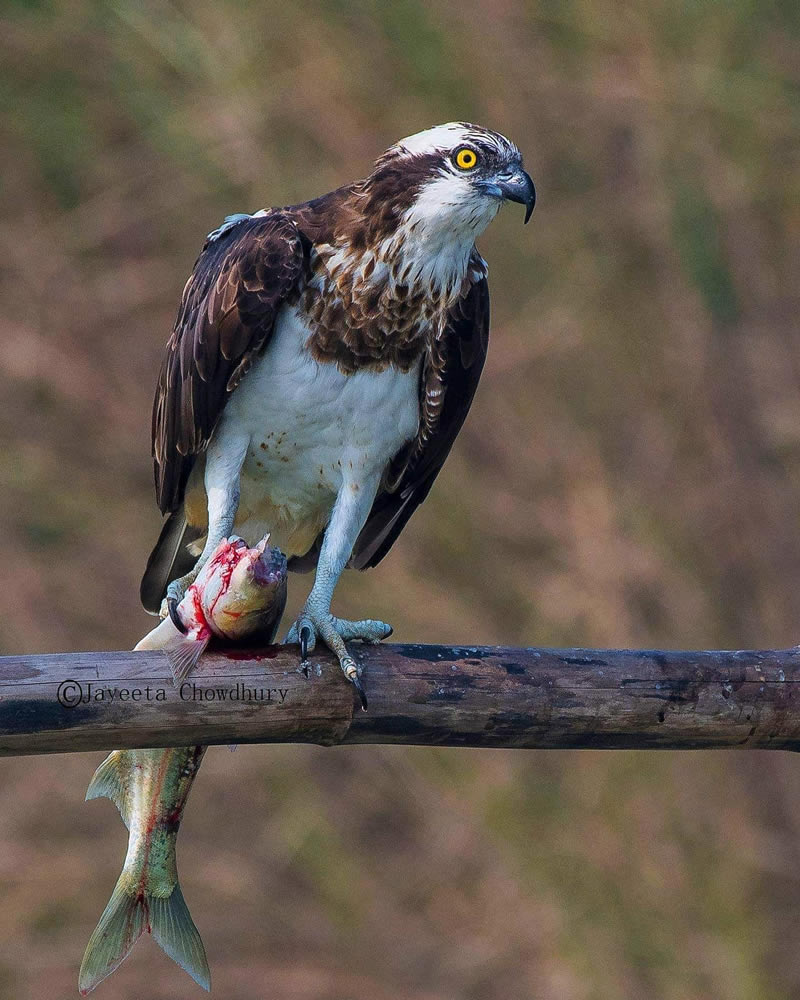
[[[269,535],[252,549],[236,536],[223,539],[171,612],[184,632],[164,647],[175,683],[189,675],[212,636],[272,642],[286,606],[286,580],[286,556],[269,545]]]

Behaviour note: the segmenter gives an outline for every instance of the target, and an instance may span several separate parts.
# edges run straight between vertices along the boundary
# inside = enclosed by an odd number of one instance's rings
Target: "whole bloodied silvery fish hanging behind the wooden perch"
[[[269,548],[268,536],[252,549],[240,538],[226,539],[191,588],[191,606],[196,603],[202,610],[202,623],[199,612],[192,612],[183,636],[165,618],[135,649],[168,651],[178,641],[192,641],[202,653],[211,634],[240,643],[270,643],[286,604],[286,577],[286,558]],[[184,601],[182,615],[187,613]],[[193,637],[193,631],[198,635]],[[176,861],[183,810],[205,751],[203,746],[114,750],[95,771],[86,799],[114,802],[128,828],[128,852],[86,946],[78,975],[81,996],[111,975],[145,933],[210,990],[208,960],[181,892]]]

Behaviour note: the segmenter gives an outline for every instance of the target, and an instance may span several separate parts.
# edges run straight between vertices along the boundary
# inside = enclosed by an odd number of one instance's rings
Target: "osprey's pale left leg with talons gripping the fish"
[[[208,536],[197,562],[191,570],[167,587],[162,611],[169,614],[182,632],[186,629],[178,614],[178,604],[197,579],[197,574],[208,562],[214,549],[223,538],[233,532],[233,522],[239,508],[239,476],[244,464],[250,439],[247,436],[226,433],[215,434],[206,452],[205,487],[208,497]],[[164,614],[162,613],[162,618]]]

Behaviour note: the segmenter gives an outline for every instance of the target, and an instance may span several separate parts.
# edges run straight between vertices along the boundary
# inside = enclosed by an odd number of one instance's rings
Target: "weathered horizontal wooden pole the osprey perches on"
[[[161,651],[0,658],[0,754],[214,743],[800,749],[800,650],[353,646],[216,650],[180,688]]]

